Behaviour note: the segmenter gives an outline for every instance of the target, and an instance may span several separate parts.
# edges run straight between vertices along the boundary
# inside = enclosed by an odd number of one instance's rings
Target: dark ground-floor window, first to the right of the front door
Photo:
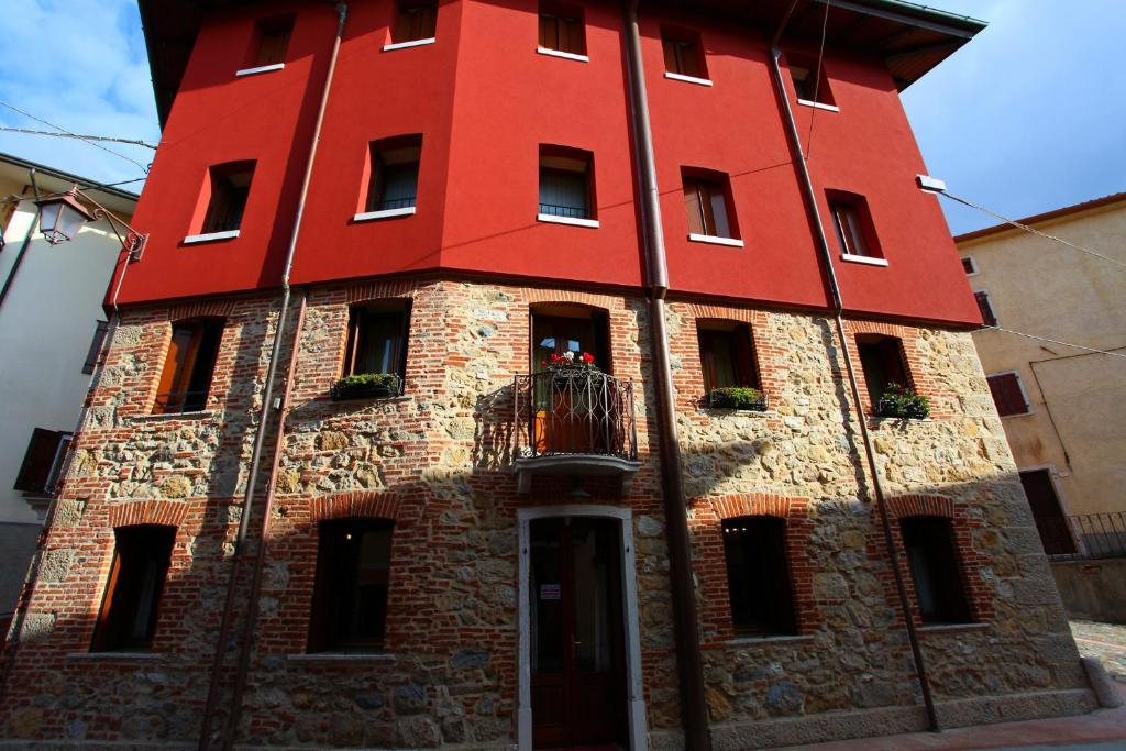
[[[786,522],[776,517],[723,521],[731,620],[736,635],[794,634]]]

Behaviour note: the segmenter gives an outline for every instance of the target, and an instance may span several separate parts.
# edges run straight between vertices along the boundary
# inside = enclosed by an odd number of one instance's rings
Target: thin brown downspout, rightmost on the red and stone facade
[[[787,18],[789,14],[787,14]],[[887,555],[891,558],[892,573],[895,575],[895,590],[899,594],[900,608],[903,610],[903,623],[906,625],[908,641],[911,643],[911,654],[914,656],[915,672],[919,676],[919,687],[922,691],[922,701],[927,708],[927,719],[930,730],[939,732],[938,715],[935,713],[935,700],[930,692],[930,680],[927,678],[927,668],[922,659],[922,650],[919,646],[919,634],[915,632],[914,614],[911,609],[911,601],[908,598],[906,587],[903,582],[903,572],[900,569],[900,551],[895,545],[895,537],[892,535],[892,522],[887,516],[887,503],[884,498],[884,488],[879,481],[879,471],[876,466],[876,450],[872,445],[872,435],[868,432],[868,417],[864,414],[864,402],[860,399],[860,384],[852,367],[852,352],[849,347],[848,336],[844,333],[844,304],[841,298],[840,285],[837,281],[837,270],[833,268],[832,251],[829,248],[829,239],[825,236],[824,223],[821,221],[821,211],[817,208],[817,194],[813,187],[813,179],[810,177],[808,167],[805,163],[802,151],[802,138],[797,133],[797,123],[794,120],[794,110],[789,105],[789,96],[786,92],[785,79],[781,75],[781,66],[778,59],[781,51],[778,48],[778,39],[785,26],[779,27],[771,39],[770,46],[770,70],[774,73],[775,96],[778,106],[786,115],[786,131],[789,135],[790,147],[794,152],[794,163],[801,177],[805,202],[813,224],[817,232],[817,247],[821,251],[821,260],[824,265],[829,278],[829,288],[832,294],[833,320],[837,327],[837,338],[841,343],[841,354],[844,358],[844,369],[848,373],[849,386],[852,391],[852,403],[856,404],[857,422],[860,426],[860,435],[864,438],[864,453],[867,458],[868,472],[872,474],[872,485],[876,495],[876,508],[879,509],[879,521],[884,529],[884,543],[887,545]]]

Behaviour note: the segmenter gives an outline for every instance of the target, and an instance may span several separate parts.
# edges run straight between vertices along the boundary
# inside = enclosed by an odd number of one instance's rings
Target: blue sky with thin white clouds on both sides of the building
[[[0,101],[77,133],[159,141],[136,0],[6,2]],[[903,95],[928,170],[951,194],[1022,217],[1126,190],[1124,0],[928,5],[990,24]],[[0,125],[53,129],[3,106]],[[105,182],[144,177],[151,150],[102,145],[128,159],[0,132],[0,152]],[[955,234],[997,223],[942,205]]]

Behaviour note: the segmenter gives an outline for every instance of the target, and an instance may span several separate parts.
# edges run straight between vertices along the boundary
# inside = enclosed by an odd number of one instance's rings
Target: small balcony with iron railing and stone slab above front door
[[[536,474],[617,476],[629,491],[637,462],[633,382],[604,373],[516,376],[517,489]]]

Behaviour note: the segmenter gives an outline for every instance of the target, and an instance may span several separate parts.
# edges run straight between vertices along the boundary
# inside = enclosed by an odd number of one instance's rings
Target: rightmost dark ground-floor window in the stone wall
[[[950,520],[911,517],[900,520],[900,529],[922,622],[969,623],[969,605],[962,587]]]

